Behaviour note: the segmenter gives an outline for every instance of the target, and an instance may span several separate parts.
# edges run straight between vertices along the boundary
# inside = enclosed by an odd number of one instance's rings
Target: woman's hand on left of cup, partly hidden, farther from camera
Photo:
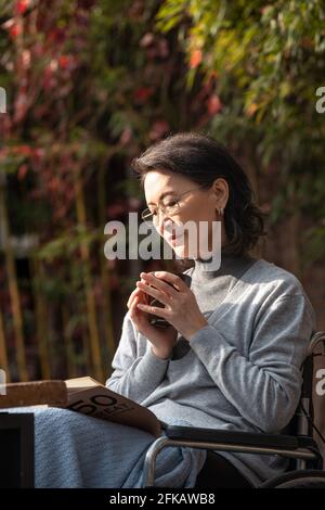
[[[144,281],[141,279],[141,281]],[[148,315],[138,308],[139,303],[147,305],[148,295],[141,289],[136,288],[128,299],[127,306],[130,310],[130,317],[136,330],[142,333],[152,343],[152,350],[158,358],[167,359],[171,355],[172,348],[178,337],[178,331],[169,326],[159,329],[152,326],[148,321]]]

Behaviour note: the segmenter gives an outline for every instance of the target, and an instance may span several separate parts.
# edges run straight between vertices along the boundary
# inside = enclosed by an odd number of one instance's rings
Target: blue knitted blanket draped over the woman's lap
[[[144,431],[60,408],[20,407],[35,413],[36,487],[139,488],[145,454],[155,437]],[[174,419],[173,424],[187,424]],[[166,447],[157,457],[155,486],[194,487],[206,450]]]

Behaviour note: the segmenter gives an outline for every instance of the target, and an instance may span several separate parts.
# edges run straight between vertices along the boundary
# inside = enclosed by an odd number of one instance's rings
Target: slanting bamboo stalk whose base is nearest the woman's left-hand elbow
[[[82,189],[82,181],[80,178],[80,170],[77,167],[74,171],[74,184],[75,184],[75,194],[76,194],[76,212],[78,225],[86,228],[87,215],[86,215],[86,205],[84,196]],[[102,368],[101,359],[101,345],[100,345],[100,334],[98,327],[98,317],[94,294],[91,282],[91,271],[90,271],[90,254],[89,246],[87,242],[80,242],[80,252],[82,260],[82,276],[83,276],[83,285],[86,292],[86,306],[88,315],[88,328],[90,334],[90,347],[91,347],[91,357],[94,369],[95,378],[99,382],[104,382],[104,372]]]

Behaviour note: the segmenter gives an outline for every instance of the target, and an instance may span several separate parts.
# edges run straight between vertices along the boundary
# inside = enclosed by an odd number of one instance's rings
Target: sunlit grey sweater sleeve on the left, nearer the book
[[[138,355],[133,323],[127,313],[119,345],[112,361],[113,372],[105,385],[120,395],[141,403],[162,381],[168,364],[169,359],[155,356],[152,347],[143,356]]]

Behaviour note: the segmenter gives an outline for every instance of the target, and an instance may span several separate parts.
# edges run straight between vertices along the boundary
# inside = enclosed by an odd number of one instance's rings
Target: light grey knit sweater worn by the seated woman
[[[316,329],[299,280],[263,258],[222,256],[218,271],[184,271],[208,326],[169,359],[156,357],[126,314],[106,385],[159,420],[278,433],[299,401],[300,366]],[[280,456],[221,452],[253,484],[286,469]]]

